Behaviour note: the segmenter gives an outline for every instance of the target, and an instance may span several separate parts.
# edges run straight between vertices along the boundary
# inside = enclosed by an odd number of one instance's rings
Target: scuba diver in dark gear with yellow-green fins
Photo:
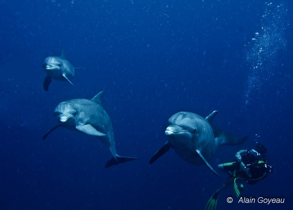
[[[249,185],[253,185],[261,179],[268,176],[272,172],[272,166],[268,165],[269,156],[266,154],[267,148],[257,143],[254,149],[240,150],[235,154],[236,160],[231,163],[219,164],[218,169],[228,173],[230,177],[227,181],[214,192],[212,197],[207,202],[205,210],[215,210],[219,193],[234,184],[234,191],[239,197],[240,191],[243,190],[242,181],[246,181]],[[241,183],[238,187],[237,183]]]

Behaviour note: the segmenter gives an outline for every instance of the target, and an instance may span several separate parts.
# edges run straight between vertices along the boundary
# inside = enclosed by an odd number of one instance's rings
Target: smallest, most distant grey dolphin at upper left
[[[47,57],[42,67],[47,74],[47,77],[43,83],[45,91],[48,91],[52,79],[57,81],[68,81],[72,86],[74,86],[69,79],[74,76],[74,70],[79,68],[74,68],[71,65],[71,63],[65,58],[63,50],[61,52],[61,56]]]

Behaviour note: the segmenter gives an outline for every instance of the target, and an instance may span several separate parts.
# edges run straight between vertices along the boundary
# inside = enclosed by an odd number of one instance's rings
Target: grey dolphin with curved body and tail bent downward
[[[103,95],[104,91],[101,91],[92,99],[72,99],[59,103],[54,111],[58,125],[48,131],[43,140],[58,127],[65,127],[72,131],[98,136],[109,147],[113,158],[105,164],[105,168],[136,160],[137,158],[117,155],[112,124],[101,105]]]

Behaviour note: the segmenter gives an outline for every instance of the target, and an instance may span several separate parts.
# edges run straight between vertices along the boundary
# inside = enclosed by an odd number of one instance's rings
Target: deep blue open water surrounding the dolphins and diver
[[[242,195],[285,197],[228,204],[231,187],[217,209],[291,206],[292,10],[289,0],[1,0],[0,209],[204,209],[226,174],[172,149],[149,159],[172,114],[214,110],[215,125],[249,139],[219,147],[210,164],[260,141],[275,171]],[[42,62],[62,49],[82,67],[76,88],[52,81],[45,92]],[[102,90],[117,153],[139,158],[109,169],[93,136],[60,128],[42,141],[58,103]]]

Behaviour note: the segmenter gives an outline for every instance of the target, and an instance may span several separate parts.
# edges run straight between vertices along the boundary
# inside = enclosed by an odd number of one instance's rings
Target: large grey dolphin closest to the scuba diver
[[[150,164],[161,157],[172,147],[186,162],[193,165],[206,164],[217,176],[217,172],[208,161],[220,145],[238,145],[245,142],[248,136],[241,138],[211,125],[217,111],[206,118],[192,112],[178,112],[168,120],[165,131],[168,141],[151,158]]]

